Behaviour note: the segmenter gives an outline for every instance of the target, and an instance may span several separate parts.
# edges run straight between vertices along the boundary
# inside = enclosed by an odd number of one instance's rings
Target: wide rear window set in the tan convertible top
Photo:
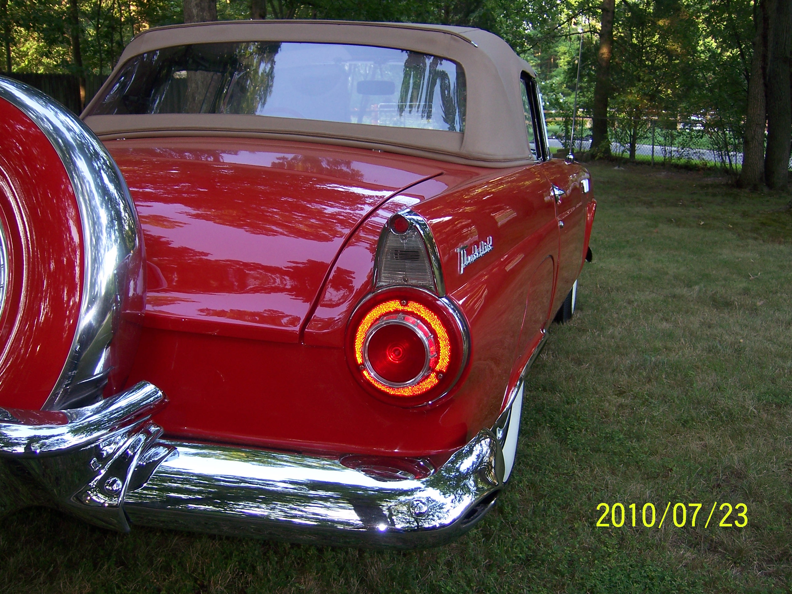
[[[317,43],[190,44],[136,55],[89,116],[227,113],[461,132],[466,81],[450,59]]]

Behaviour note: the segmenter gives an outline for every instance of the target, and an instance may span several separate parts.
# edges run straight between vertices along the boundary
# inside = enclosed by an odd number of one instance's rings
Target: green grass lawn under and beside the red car
[[[790,592],[790,196],[591,169],[577,313],[531,371],[511,484],[463,539],[394,553],[118,535],[30,509],[0,520],[0,591]],[[705,528],[715,501],[744,503],[748,525],[716,510]],[[626,507],[623,527],[596,527],[601,502]],[[687,508],[659,528],[668,502],[702,504],[696,526]]]

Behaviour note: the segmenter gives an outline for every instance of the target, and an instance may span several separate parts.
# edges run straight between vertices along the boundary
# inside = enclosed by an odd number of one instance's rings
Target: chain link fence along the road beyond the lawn
[[[547,120],[550,147],[569,150],[571,118],[548,114]],[[573,150],[576,155],[584,155],[591,147],[591,120],[579,118],[575,128]],[[611,154],[627,161],[716,166],[729,173],[739,172],[742,166],[742,129],[718,120],[634,120],[615,116],[608,119],[608,138]]]

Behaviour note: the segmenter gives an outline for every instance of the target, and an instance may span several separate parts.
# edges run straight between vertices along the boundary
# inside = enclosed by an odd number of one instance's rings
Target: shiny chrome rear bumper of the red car
[[[380,481],[338,459],[162,440],[149,383],[60,412],[0,409],[0,513],[54,505],[130,524],[303,543],[413,548],[470,530],[503,487],[498,438],[482,429],[421,480]]]

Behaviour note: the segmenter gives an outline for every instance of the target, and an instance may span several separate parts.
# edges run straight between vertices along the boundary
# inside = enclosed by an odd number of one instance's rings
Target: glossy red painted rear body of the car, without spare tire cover
[[[493,425],[588,249],[584,169],[563,161],[493,172],[304,143],[108,148],[146,245],[143,337],[128,383],[162,387],[169,405],[156,420],[177,436],[447,458]],[[229,162],[239,154],[245,162]],[[558,214],[550,180],[570,197]],[[346,322],[371,291],[377,238],[406,206],[432,227],[473,345],[455,396],[419,410],[371,398],[344,352]],[[493,252],[455,273],[455,248],[490,236]]]

